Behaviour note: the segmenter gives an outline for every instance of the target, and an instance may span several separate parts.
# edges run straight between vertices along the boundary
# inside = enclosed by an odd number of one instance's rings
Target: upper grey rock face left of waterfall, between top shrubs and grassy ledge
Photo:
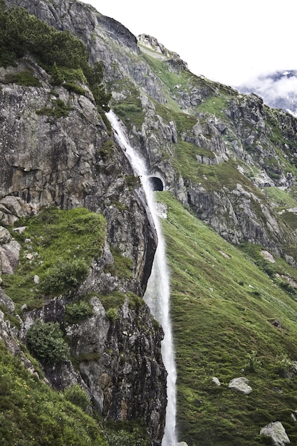
[[[125,154],[112,142],[105,161],[110,136],[90,92],[90,98],[65,88],[53,93],[46,72],[30,58],[16,69],[30,69],[43,86],[5,85],[0,93],[1,221],[13,223],[48,205],[84,206],[103,213],[110,246],[134,263],[135,276],[126,286],[142,294],[155,251],[155,229],[139,199],[141,192],[130,190],[125,181],[126,175],[132,175]],[[70,104],[69,114],[58,119],[38,115],[38,110],[54,103],[56,95]]]

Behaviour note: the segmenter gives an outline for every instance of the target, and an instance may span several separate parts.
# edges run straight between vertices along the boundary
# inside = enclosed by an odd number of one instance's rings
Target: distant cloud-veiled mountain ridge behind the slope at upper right
[[[297,71],[278,70],[261,74],[237,87],[241,93],[255,93],[273,108],[297,115]]]

